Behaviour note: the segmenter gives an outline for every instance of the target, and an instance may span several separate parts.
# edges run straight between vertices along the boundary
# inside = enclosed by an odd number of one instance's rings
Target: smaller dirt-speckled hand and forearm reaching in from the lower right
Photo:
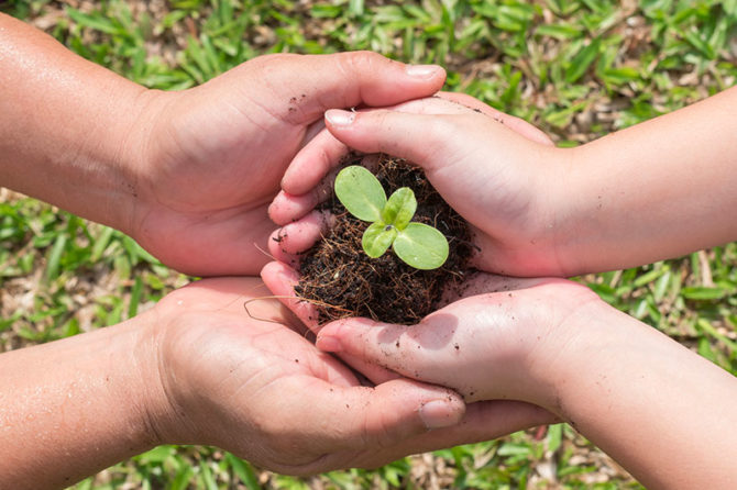
[[[452,387],[468,402],[543,407],[647,488],[734,487],[737,378],[581,285],[472,282],[498,292],[462,299],[409,327],[333,322],[317,346]]]

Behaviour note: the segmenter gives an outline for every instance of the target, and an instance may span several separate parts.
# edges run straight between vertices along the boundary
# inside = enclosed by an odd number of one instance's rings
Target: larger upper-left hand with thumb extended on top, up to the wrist
[[[127,231],[184,272],[257,274],[268,203],[310,124],[330,108],[429,96],[443,80],[440,67],[372,53],[270,55],[184,92],[148,93]]]

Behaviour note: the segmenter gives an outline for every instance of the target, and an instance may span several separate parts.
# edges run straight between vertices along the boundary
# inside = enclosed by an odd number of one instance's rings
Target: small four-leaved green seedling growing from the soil
[[[416,269],[437,269],[448,258],[448,241],[438,230],[410,222],[417,210],[415,192],[408,187],[386,199],[382,183],[366,168],[352,165],[336,177],[336,196],[355,218],[371,224],[361,245],[377,258],[389,248]]]

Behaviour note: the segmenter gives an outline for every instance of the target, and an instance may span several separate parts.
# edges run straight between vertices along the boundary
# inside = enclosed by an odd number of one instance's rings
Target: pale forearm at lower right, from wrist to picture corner
[[[733,488],[737,378],[606,305],[561,349],[549,409],[648,488]]]

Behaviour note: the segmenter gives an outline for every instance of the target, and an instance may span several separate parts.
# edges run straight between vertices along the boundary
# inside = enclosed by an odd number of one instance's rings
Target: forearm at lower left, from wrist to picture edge
[[[0,487],[66,488],[158,443],[141,319],[0,355]]]

